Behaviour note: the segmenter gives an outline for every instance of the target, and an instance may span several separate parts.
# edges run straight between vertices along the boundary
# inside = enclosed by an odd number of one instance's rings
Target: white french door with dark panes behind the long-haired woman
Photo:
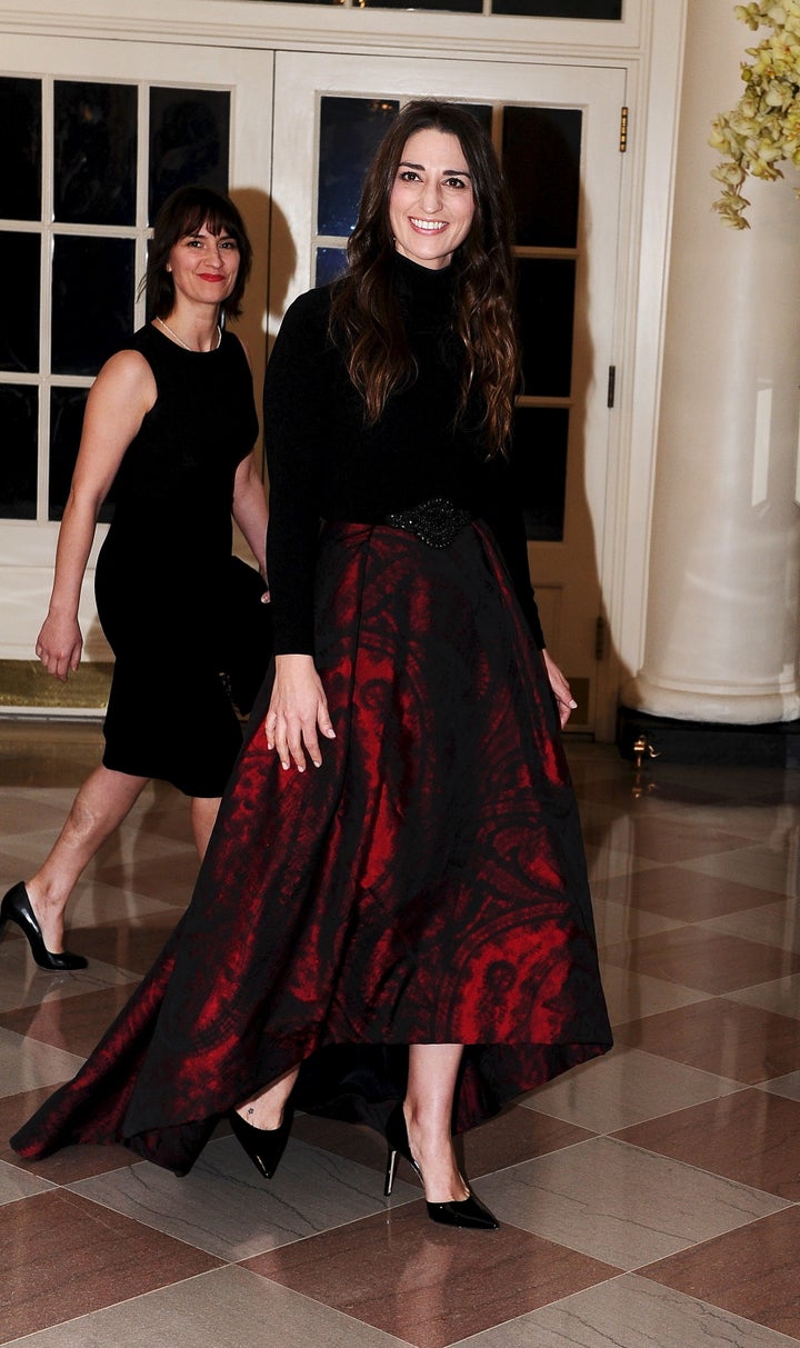
[[[426,94],[466,102],[490,125],[506,173],[512,164],[524,217],[517,256],[527,372],[517,446],[527,458],[531,574],[548,647],[578,696],[574,728],[601,735],[613,724],[615,694],[614,681],[609,687],[598,677],[598,630],[625,88],[624,69],[533,61],[281,51],[275,70],[273,329],[295,295],[335,274],[353,222],[352,186],[338,179],[358,166],[392,109]],[[566,371],[554,357],[559,349]]]

